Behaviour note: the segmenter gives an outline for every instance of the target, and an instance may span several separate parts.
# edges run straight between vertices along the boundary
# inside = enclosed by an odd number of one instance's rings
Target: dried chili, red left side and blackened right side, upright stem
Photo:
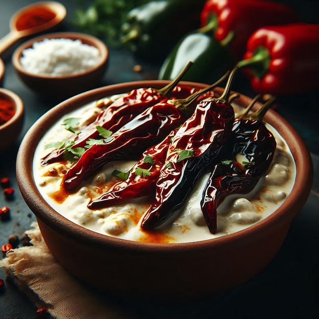
[[[218,155],[234,121],[227,100],[235,71],[224,93],[198,103],[193,116],[176,132],[156,182],[155,198],[142,218],[142,229],[152,230],[172,219]]]

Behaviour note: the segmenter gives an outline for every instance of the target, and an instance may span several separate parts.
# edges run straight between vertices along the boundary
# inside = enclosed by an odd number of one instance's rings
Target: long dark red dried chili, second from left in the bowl
[[[162,141],[179,127],[189,116],[189,106],[226,76],[186,99],[172,99],[153,105],[114,133],[108,142],[92,145],[65,174],[64,188],[74,191],[98,167],[116,159],[138,159],[145,149]]]

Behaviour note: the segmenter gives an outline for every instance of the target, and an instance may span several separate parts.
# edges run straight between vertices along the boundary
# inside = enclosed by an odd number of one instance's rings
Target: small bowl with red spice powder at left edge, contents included
[[[0,151],[13,145],[23,124],[24,105],[14,92],[0,88]]]

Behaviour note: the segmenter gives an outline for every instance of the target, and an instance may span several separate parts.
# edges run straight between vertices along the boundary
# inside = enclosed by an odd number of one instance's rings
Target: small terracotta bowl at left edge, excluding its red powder
[[[14,105],[15,113],[11,119],[0,125],[0,151],[10,147],[19,136],[24,115],[24,105],[21,98],[10,90],[0,88],[0,99]]]

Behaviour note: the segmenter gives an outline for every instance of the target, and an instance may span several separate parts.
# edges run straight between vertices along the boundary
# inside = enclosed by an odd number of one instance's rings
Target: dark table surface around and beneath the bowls
[[[28,0],[0,0],[0,38],[9,32],[9,19],[21,7],[32,3]],[[67,8],[67,19],[61,31],[74,31],[70,19],[76,8],[75,0],[62,2]],[[315,1],[290,1],[307,21],[317,22],[318,5]],[[11,55],[17,43],[3,55],[6,73],[3,87],[18,94],[24,102],[25,120],[19,139],[5,152],[0,153],[0,178],[9,177],[15,189],[11,201],[0,196],[0,206],[9,206],[11,219],[0,222],[0,245],[8,242],[10,234],[21,236],[35,221],[29,207],[19,192],[15,161],[19,144],[25,132],[57,101],[43,100],[30,91],[15,74],[11,65]],[[142,72],[135,72],[140,64]],[[159,63],[139,60],[127,49],[110,49],[110,61],[100,86],[154,79]],[[318,74],[319,76],[319,74]],[[302,81],[302,79],[301,79]],[[253,96],[245,85],[233,87],[241,93]],[[286,240],[273,261],[249,282],[227,291],[218,297],[207,297],[188,302],[145,304],[117,300],[114,303],[130,309],[139,318],[317,318],[319,317],[319,128],[317,125],[317,90],[281,98],[278,113],[284,116],[304,139],[313,159],[314,182],[311,194],[300,214],[293,221]],[[315,116],[314,116],[315,115]],[[272,238],[269,238],[272,240]],[[0,269],[0,278],[5,278]],[[35,318],[35,306],[10,282],[0,294],[0,318]]]

